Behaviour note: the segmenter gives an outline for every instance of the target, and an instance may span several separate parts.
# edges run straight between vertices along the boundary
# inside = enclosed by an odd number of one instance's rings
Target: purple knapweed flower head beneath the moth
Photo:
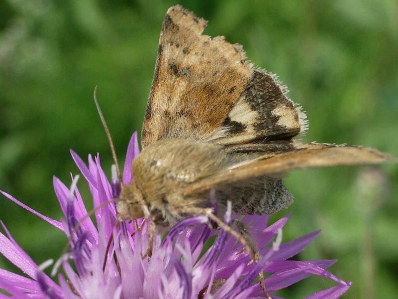
[[[65,215],[61,222],[30,209],[1,191],[10,200],[63,231],[69,239],[70,252],[59,260],[64,274],[58,274],[57,283],[55,278],[43,272],[43,265],[38,266],[23,251],[2,224],[6,235],[0,233],[0,252],[26,276],[0,269],[0,289],[6,292],[0,294],[0,299],[263,298],[263,291],[256,281],[261,269],[268,275],[265,285],[274,299],[280,297],[273,292],[311,275],[337,283],[331,289],[309,296],[311,299],[338,298],[350,287],[350,283],[325,270],[335,260],[291,260],[319,232],[282,244],[281,231],[290,215],[270,226],[267,226],[268,216],[244,216],[241,219],[250,227],[253,239],[258,243],[261,254],[258,263],[249,263],[251,259],[242,244],[226,231],[212,228],[214,225],[206,216],[181,221],[163,238],[161,234],[155,234],[152,255],[145,256],[149,221],[139,219],[139,229],[128,222],[116,225],[115,205],[106,203],[117,198],[120,192],[118,181],[108,181],[99,155],[89,156],[87,166],[75,152],[71,152],[90,186],[94,206],[102,205],[95,211],[97,225],[86,217],[86,207],[74,183],[68,188],[54,178],[55,193]],[[131,163],[138,153],[137,135],[133,134],[124,165],[124,184],[133,179]],[[229,206],[224,221],[230,224],[239,216],[231,216]],[[214,235],[217,236],[213,244],[206,250],[206,241]]]

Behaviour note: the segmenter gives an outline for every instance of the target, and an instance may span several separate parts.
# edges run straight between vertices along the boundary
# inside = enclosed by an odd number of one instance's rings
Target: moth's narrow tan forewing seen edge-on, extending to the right
[[[236,163],[192,184],[186,189],[185,194],[189,196],[199,191],[203,192],[203,190],[224,188],[223,186],[232,186],[236,182],[250,178],[278,176],[285,171],[297,168],[373,164],[386,161],[394,161],[394,159],[376,149],[312,143],[299,146],[298,149],[292,151],[265,154],[251,160]],[[267,200],[266,196],[262,197]],[[286,201],[286,204],[289,204],[289,202]],[[283,206],[281,203],[280,208],[284,207],[287,206]],[[257,211],[258,207],[248,206],[246,211],[248,210]],[[266,214],[266,212],[264,213]]]

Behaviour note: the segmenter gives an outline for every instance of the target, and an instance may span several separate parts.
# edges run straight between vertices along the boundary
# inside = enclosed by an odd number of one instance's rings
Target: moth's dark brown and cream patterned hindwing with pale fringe
[[[254,69],[244,91],[211,141],[229,151],[283,151],[295,148],[292,138],[307,129],[301,107],[286,96],[276,75]]]

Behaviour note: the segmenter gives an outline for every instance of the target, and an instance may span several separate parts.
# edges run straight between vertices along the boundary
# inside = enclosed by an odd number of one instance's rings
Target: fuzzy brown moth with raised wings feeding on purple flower
[[[120,220],[170,226],[208,215],[209,191],[239,214],[272,214],[293,201],[281,174],[295,168],[380,163],[376,149],[300,144],[305,114],[276,76],[239,44],[202,35],[206,21],[176,5],[160,34],[142,151],[122,186]]]

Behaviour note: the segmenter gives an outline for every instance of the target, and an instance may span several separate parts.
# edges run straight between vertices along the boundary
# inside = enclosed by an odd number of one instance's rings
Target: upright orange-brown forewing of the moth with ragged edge
[[[206,21],[181,6],[167,11],[159,40],[142,146],[165,138],[204,139],[221,126],[250,79],[238,44],[201,35]]]

